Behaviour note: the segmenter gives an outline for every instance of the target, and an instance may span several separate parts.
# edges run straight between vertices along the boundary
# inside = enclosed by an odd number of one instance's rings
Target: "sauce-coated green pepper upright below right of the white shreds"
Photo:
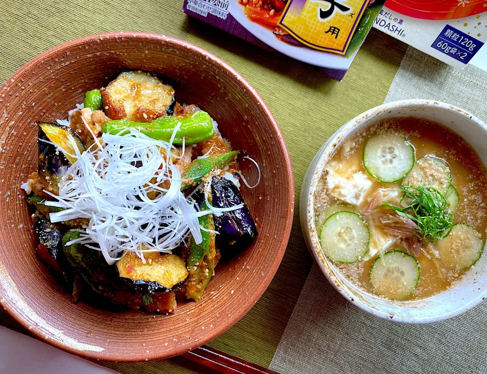
[[[201,210],[207,210],[206,203],[203,202]],[[215,229],[213,215],[208,214],[198,218],[199,224],[210,230]],[[215,245],[215,234],[213,232],[201,231],[203,241],[196,244],[191,241],[187,266],[189,270],[188,282],[186,284],[186,298],[198,301],[203,296],[204,288],[213,276],[213,270],[217,266],[220,255],[217,253]]]

